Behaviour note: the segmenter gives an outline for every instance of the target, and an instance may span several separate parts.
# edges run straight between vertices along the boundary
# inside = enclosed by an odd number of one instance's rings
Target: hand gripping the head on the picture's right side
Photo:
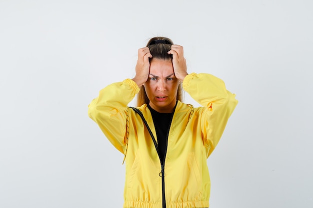
[[[182,82],[184,77],[188,75],[186,59],[183,57],[183,47],[181,45],[171,45],[171,49],[167,53],[173,55],[172,63],[175,77]]]

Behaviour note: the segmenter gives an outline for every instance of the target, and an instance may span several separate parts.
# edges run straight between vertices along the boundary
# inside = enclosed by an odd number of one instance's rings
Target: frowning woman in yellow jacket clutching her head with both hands
[[[138,50],[133,79],[103,88],[88,115],[125,155],[124,208],[207,208],[206,159],[237,101],[222,80],[188,74],[183,48],[165,37]],[[182,88],[202,107],[181,102]],[[137,95],[138,107],[127,107]]]

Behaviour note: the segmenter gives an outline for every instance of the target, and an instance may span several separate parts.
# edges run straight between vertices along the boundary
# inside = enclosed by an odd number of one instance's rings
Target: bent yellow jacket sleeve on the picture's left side
[[[88,116],[100,127],[112,145],[125,154],[127,104],[139,92],[131,79],[108,85],[88,105]]]

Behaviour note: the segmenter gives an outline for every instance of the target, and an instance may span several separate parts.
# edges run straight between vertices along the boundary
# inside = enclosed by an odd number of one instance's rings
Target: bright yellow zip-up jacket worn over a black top
[[[162,208],[163,192],[166,208],[209,207],[206,159],[217,145],[237,100],[221,79],[210,74],[191,73],[182,86],[202,107],[177,102],[163,175],[147,128],[140,116],[127,107],[139,91],[135,82],[125,79],[108,85],[88,106],[89,117],[125,155],[124,208]],[[156,138],[147,105],[138,109]]]

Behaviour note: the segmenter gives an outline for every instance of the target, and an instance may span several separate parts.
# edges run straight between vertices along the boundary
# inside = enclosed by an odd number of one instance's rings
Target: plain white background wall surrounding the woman
[[[122,207],[123,155],[87,105],[132,78],[157,35],[239,100],[208,159],[210,207],[312,208],[312,11],[311,0],[0,0],[0,208]]]

